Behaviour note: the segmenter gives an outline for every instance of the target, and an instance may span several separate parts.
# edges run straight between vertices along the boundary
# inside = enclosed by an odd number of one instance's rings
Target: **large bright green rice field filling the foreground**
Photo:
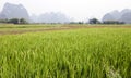
[[[131,78],[131,29],[0,36],[0,78]]]

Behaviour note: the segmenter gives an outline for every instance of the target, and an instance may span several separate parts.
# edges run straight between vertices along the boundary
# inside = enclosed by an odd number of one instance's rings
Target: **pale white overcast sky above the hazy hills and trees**
[[[75,21],[93,17],[102,20],[110,11],[131,9],[131,0],[0,0],[0,11],[5,2],[23,4],[29,15],[61,12]]]

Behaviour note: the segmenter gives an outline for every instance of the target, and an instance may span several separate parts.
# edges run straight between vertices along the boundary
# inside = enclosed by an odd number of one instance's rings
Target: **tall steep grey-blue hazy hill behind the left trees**
[[[22,4],[5,3],[2,12],[0,13],[0,18],[25,18],[28,21],[29,15]]]

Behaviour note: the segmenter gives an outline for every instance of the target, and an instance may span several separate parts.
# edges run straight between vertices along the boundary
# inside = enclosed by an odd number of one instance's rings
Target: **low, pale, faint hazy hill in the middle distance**
[[[44,13],[38,16],[32,15],[31,20],[36,23],[69,23],[71,21],[70,17],[60,12]]]

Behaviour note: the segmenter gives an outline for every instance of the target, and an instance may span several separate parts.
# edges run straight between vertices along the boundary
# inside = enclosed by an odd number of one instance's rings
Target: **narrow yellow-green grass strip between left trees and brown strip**
[[[28,30],[41,30],[48,28],[58,28],[63,26],[62,24],[0,24],[0,32],[8,32],[9,31],[28,31]]]

